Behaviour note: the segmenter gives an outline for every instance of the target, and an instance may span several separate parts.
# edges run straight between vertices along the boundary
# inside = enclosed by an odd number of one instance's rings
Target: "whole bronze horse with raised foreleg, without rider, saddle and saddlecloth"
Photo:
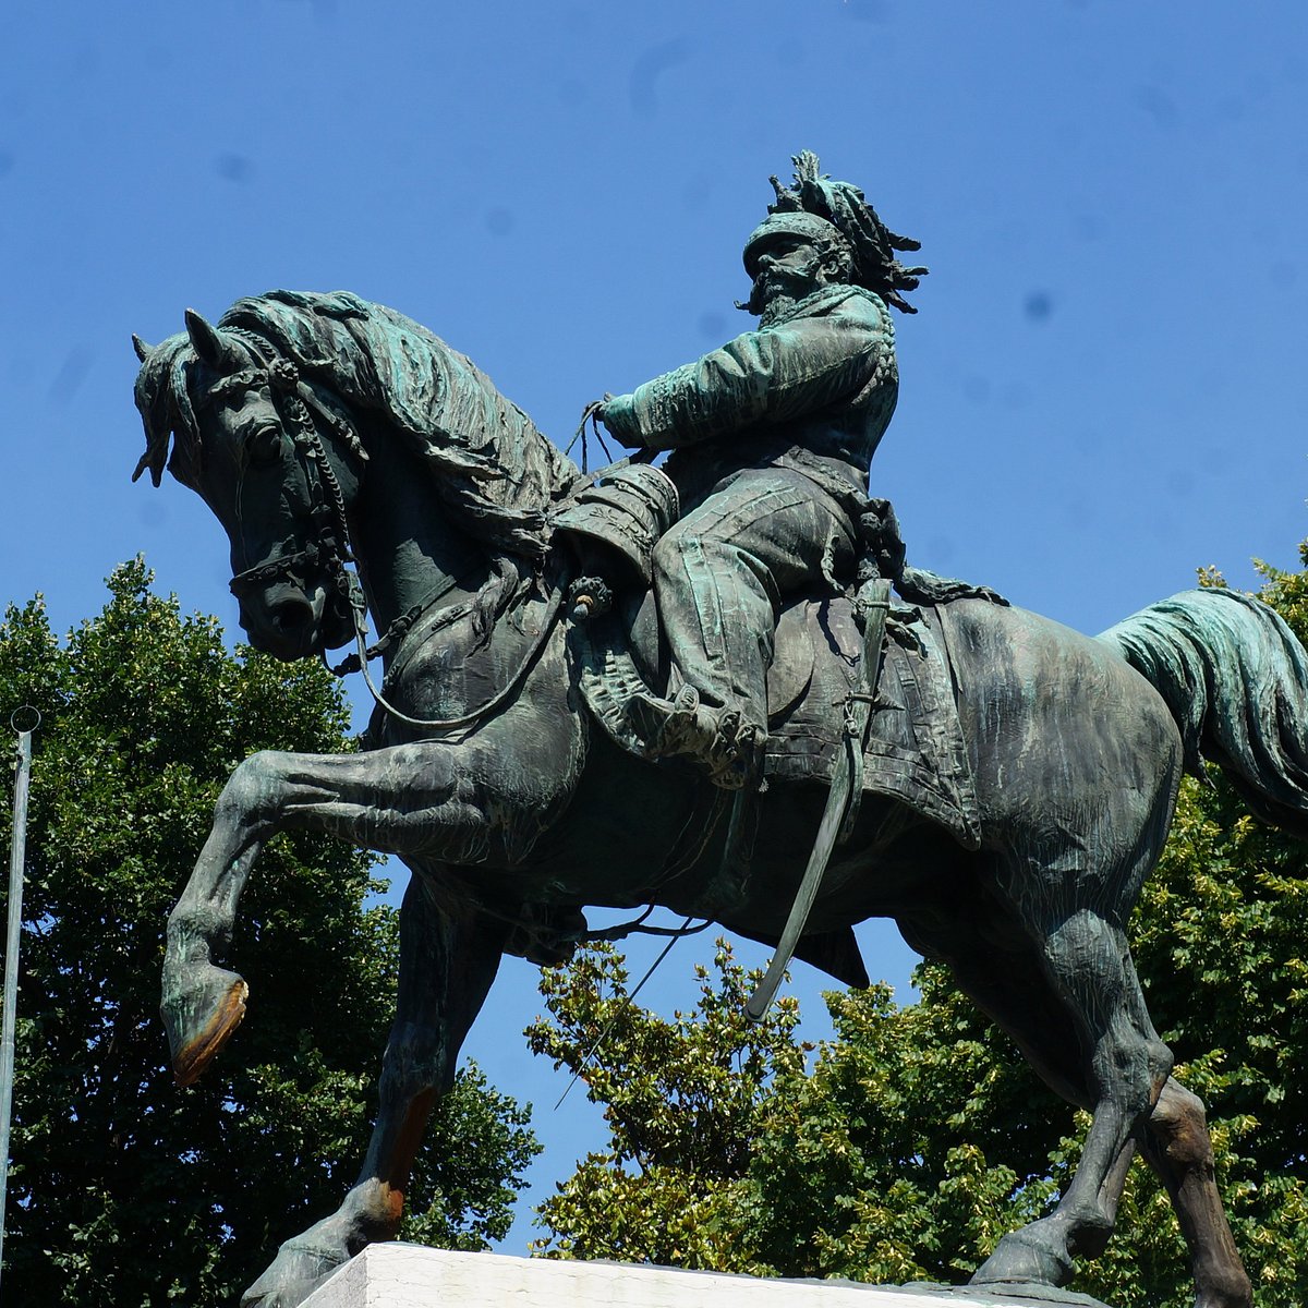
[[[774,943],[824,786],[757,795],[738,892],[709,893],[730,848],[730,824],[713,816],[722,793],[684,764],[623,749],[578,693],[577,565],[552,547],[551,525],[583,479],[422,327],[347,293],[275,292],[238,301],[216,327],[187,314],[186,334],[137,341],[137,475],[157,485],[167,466],[217,515],[251,642],[319,657],[354,638],[365,603],[385,633],[386,706],[369,748],[242,763],[167,929],[162,1011],[186,1084],[245,1010],[245,981],[213,956],[264,841],[331,832],[413,872],[358,1181],[242,1300],[290,1308],[395,1235],[424,1122],[505,952],[565,956],[587,904],[657,903]],[[1308,657],[1270,610],[1220,591],[1176,596],[1093,640],[980,599],[944,608],[978,848],[866,795],[797,952],[866,981],[840,942],[852,923],[895,918],[1092,1114],[1057,1209],[1005,1236],[973,1283],[1065,1283],[1108,1239],[1139,1148],[1176,1207],[1196,1303],[1247,1308],[1203,1105],[1169,1075],[1125,926],[1180,777],[1202,757],[1261,818],[1308,833]]]

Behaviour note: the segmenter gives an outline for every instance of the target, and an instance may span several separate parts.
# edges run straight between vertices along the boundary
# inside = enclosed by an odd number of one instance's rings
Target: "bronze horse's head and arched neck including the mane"
[[[166,466],[200,493],[232,543],[241,623],[279,658],[354,634],[352,553],[382,625],[492,560],[534,566],[577,477],[468,358],[349,292],[272,290],[217,324],[187,313],[137,354],[136,475],[158,485]]]

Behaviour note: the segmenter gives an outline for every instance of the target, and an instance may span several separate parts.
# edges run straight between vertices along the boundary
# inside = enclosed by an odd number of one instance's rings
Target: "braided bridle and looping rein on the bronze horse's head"
[[[318,425],[314,422],[310,407],[317,411],[319,417],[331,428],[358,463],[368,463],[368,451],[349,422],[327,408],[314,391],[303,383],[300,369],[294,362],[279,356],[264,364],[263,349],[266,347],[263,341],[241,328],[225,328],[225,331],[238,336],[255,361],[263,364],[263,366],[247,368],[226,374],[211,388],[209,394],[211,396],[221,396],[228,391],[251,390],[264,383],[268,385],[273,395],[273,405],[283,421],[283,428],[290,436],[300,458],[300,464],[303,468],[305,489],[310,504],[309,517],[313,522],[313,536],[300,549],[279,555],[276,559],[268,559],[233,576],[228,583],[233,595],[239,599],[242,593],[251,587],[292,577],[303,579],[306,573],[318,573],[327,579],[328,590],[335,594],[337,602],[348,608],[354,628],[357,650],[356,654],[352,654],[336,667],[332,667],[327,662],[327,655],[323,653],[323,666],[328,671],[336,676],[345,676],[354,671],[362,672],[369,693],[377,704],[392,718],[407,726],[417,727],[422,731],[454,731],[476,726],[509,702],[531,670],[562,611],[562,589],[557,583],[551,587],[549,603],[540,621],[539,634],[532,641],[513,676],[485,702],[470,713],[453,718],[413,718],[396,709],[374,684],[368,670],[369,661],[378,658],[392,645],[403,641],[417,619],[422,613],[429,612],[453,590],[458,589],[459,581],[455,577],[445,578],[436,590],[424,596],[421,603],[396,617],[374,645],[368,644],[368,599],[364,595],[358,573],[349,566],[353,564],[357,568],[357,560],[349,538],[345,496],[340,488],[336,470],[327,455],[327,447],[323,443]]]

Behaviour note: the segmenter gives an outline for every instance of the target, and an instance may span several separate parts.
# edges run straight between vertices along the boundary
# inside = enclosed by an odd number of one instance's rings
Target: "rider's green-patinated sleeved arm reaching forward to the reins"
[[[606,402],[604,425],[625,445],[671,450],[819,412],[871,381],[893,348],[887,317],[854,294],[827,313],[746,332]]]

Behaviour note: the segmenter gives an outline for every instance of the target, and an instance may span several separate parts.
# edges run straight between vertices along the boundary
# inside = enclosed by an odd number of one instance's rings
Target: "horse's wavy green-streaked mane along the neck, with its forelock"
[[[388,422],[471,535],[510,553],[545,553],[548,510],[576,468],[471,360],[425,327],[343,290],[238,300],[217,326],[247,348],[290,360],[356,413]],[[149,467],[156,484],[169,433],[177,438],[169,468],[187,484],[198,480],[191,388],[199,370],[184,335],[164,341],[141,368],[136,403],[149,447],[137,473]]]

